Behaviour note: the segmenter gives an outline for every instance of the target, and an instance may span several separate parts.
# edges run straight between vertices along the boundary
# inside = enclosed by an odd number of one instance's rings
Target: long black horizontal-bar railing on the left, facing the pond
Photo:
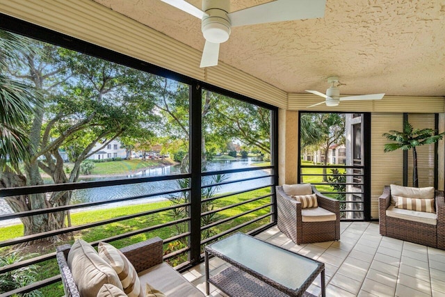
[[[17,245],[28,245],[26,250],[37,252],[33,257],[29,257],[21,262],[0,267],[0,275],[3,273],[14,273],[19,268],[25,268],[31,265],[44,267],[45,271],[51,271],[47,275],[38,278],[36,282],[28,284],[19,289],[0,294],[0,297],[10,296],[12,294],[24,294],[36,289],[42,291],[56,291],[59,296],[63,294],[63,288],[60,284],[60,275],[56,262],[56,246],[63,243],[72,243],[76,237],[87,236],[88,234],[102,234],[99,238],[95,236],[94,241],[90,241],[92,246],[97,246],[100,241],[113,242],[118,248],[127,246],[135,241],[143,241],[152,236],[160,236],[163,239],[165,256],[164,260],[175,266],[177,270],[182,271],[190,266],[194,266],[202,261],[202,251],[205,245],[221,239],[236,231],[248,234],[257,234],[271,225],[275,224],[275,191],[273,181],[274,175],[270,174],[273,166],[264,166],[256,168],[243,168],[238,170],[225,170],[218,172],[203,172],[201,175],[201,191],[218,186],[231,186],[236,184],[250,184],[256,181],[259,186],[243,186],[243,189],[237,191],[220,192],[200,201],[200,242],[193,243],[191,221],[193,211],[191,207],[191,187],[177,187],[169,189],[170,191],[156,191],[152,193],[142,193],[141,195],[129,195],[111,200],[102,200],[95,202],[81,202],[61,207],[36,209],[33,211],[23,211],[14,214],[0,215],[0,223],[6,220],[17,220],[35,215],[54,214],[58,211],[66,211],[72,215],[76,211],[91,210],[94,207],[107,207],[107,209],[117,209],[118,205],[147,203],[147,198],[163,197],[165,203],[155,209],[135,211],[131,214],[115,214],[109,218],[97,218],[88,223],[72,224],[48,232],[31,234],[28,236],[15,236],[14,238],[0,241],[0,249],[14,250]],[[204,182],[207,177],[213,175],[231,175],[236,172],[261,172],[257,177],[248,177],[243,179],[233,179],[223,181],[217,184]],[[27,195],[35,193],[51,193],[54,191],[79,191],[86,188],[109,189],[115,186],[150,184],[154,182],[183,181],[177,184],[191,184],[185,182],[191,179],[191,174],[169,175],[162,177],[144,177],[138,179],[116,179],[100,182],[79,182],[72,184],[50,184],[42,186],[27,186],[22,188],[3,188],[0,189],[0,199],[15,195]],[[207,179],[208,181],[208,179]],[[234,188],[236,188],[234,186]],[[113,190],[114,191],[114,190]],[[141,207],[142,208],[142,207]],[[159,218],[162,220],[159,221]],[[211,218],[211,219],[209,219]],[[19,223],[19,222],[18,222]],[[133,225],[134,224],[134,225]],[[137,227],[135,227],[137,225]],[[2,228],[0,227],[0,230]],[[102,233],[99,233],[102,232]],[[48,243],[48,239],[57,239],[56,243]],[[86,239],[88,241],[88,239]],[[42,245],[42,242],[47,242]],[[39,249],[33,247],[39,246]],[[42,248],[43,247],[43,248]],[[193,250],[198,249],[200,259],[193,259]],[[43,271],[43,269],[42,269]],[[51,286],[51,287],[50,287]],[[55,287],[54,287],[55,286]]]

